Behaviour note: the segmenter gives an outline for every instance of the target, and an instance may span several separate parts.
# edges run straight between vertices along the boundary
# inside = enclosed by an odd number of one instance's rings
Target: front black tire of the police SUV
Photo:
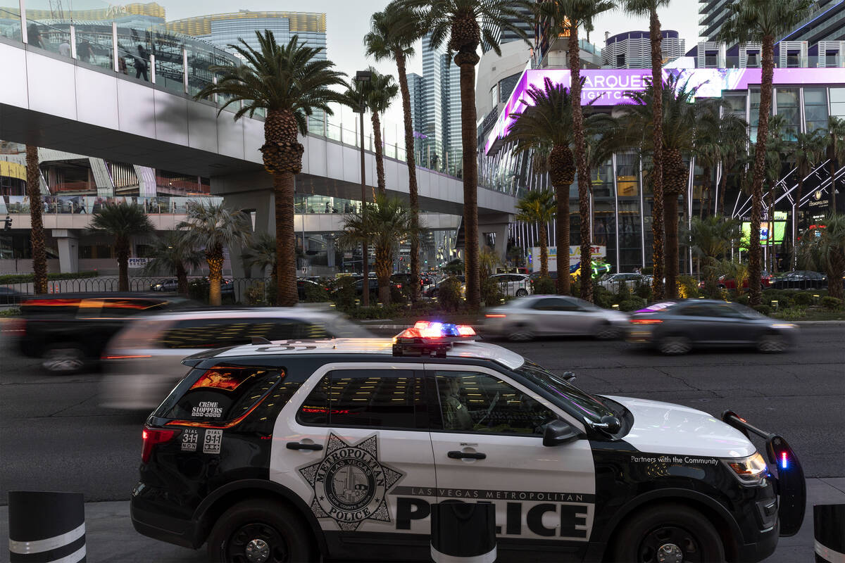
[[[664,549],[664,560],[684,563],[725,560],[722,538],[716,528],[701,512],[689,506],[674,503],[651,506],[626,520],[629,523],[616,534],[612,561],[657,563],[660,549]],[[677,555],[681,558],[677,559]]]

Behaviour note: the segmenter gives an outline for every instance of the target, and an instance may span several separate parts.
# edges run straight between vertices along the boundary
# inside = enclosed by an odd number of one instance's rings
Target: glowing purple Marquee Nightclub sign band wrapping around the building
[[[725,90],[747,90],[752,85],[760,84],[760,68],[664,68],[663,79],[670,74],[678,76],[681,84],[698,87],[697,98],[718,98]],[[630,103],[624,95],[626,90],[646,89],[651,81],[651,68],[582,70],[585,78],[581,90],[581,104],[591,100],[594,106],[619,106]],[[543,80],[550,78],[555,84],[570,86],[568,68],[555,70],[526,70],[516,84],[504,110],[489,133],[484,144],[484,152],[489,153],[493,143],[504,138],[514,122],[511,117],[525,109],[529,100],[526,90],[531,86],[542,88]],[[775,68],[774,84],[845,84],[845,68]]]

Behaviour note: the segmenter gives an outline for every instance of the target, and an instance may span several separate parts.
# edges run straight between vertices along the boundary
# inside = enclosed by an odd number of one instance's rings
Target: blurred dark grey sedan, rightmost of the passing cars
[[[795,344],[798,327],[754,309],[720,300],[663,301],[635,311],[628,341],[662,354],[686,354],[698,347],[754,346],[783,352]]]

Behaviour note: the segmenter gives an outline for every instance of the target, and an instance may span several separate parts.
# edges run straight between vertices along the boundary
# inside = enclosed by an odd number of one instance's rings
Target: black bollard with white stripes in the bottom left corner
[[[85,563],[82,493],[10,491],[8,550],[10,563]]]

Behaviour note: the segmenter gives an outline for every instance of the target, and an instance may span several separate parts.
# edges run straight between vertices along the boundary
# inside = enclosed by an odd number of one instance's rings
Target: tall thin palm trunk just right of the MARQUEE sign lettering
[[[654,89],[652,138],[654,150],[651,156],[651,191],[653,193],[651,262],[654,267],[654,277],[651,279],[651,294],[655,300],[658,300],[663,298],[665,291],[663,287],[665,258],[663,256],[663,55],[660,48],[660,19],[657,17],[656,9],[651,11],[648,29],[651,37],[651,84]]]

